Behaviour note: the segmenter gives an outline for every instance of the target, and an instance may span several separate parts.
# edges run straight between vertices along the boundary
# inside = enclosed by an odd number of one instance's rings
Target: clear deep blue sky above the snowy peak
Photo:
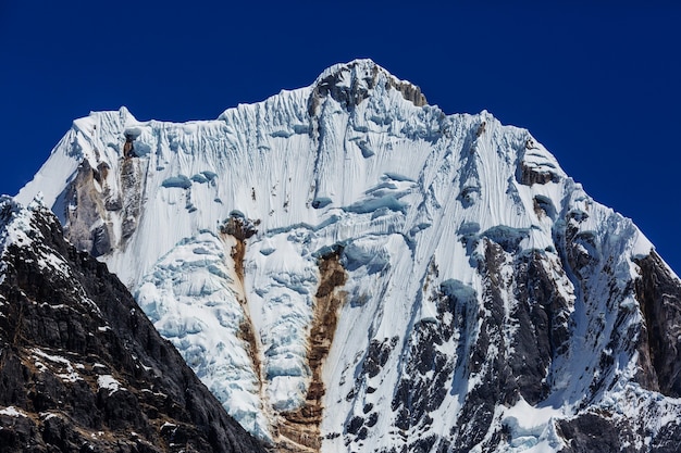
[[[0,193],[91,110],[214,118],[371,58],[446,113],[529,128],[681,273],[681,7],[228,3],[0,0]]]

